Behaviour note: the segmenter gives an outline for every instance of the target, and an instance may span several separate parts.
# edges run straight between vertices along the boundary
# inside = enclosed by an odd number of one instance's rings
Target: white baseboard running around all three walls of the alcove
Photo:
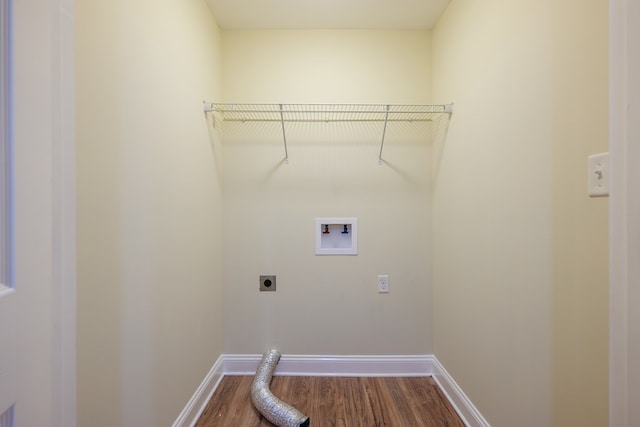
[[[255,375],[262,355],[223,354],[193,394],[173,427],[190,427],[225,375]],[[433,355],[312,356],[283,355],[274,375],[348,377],[433,377],[468,427],[491,427]]]

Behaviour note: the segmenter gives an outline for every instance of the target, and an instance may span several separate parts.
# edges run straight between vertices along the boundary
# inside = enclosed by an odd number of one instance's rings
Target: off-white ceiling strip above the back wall
[[[207,0],[223,29],[430,29],[449,0]]]

